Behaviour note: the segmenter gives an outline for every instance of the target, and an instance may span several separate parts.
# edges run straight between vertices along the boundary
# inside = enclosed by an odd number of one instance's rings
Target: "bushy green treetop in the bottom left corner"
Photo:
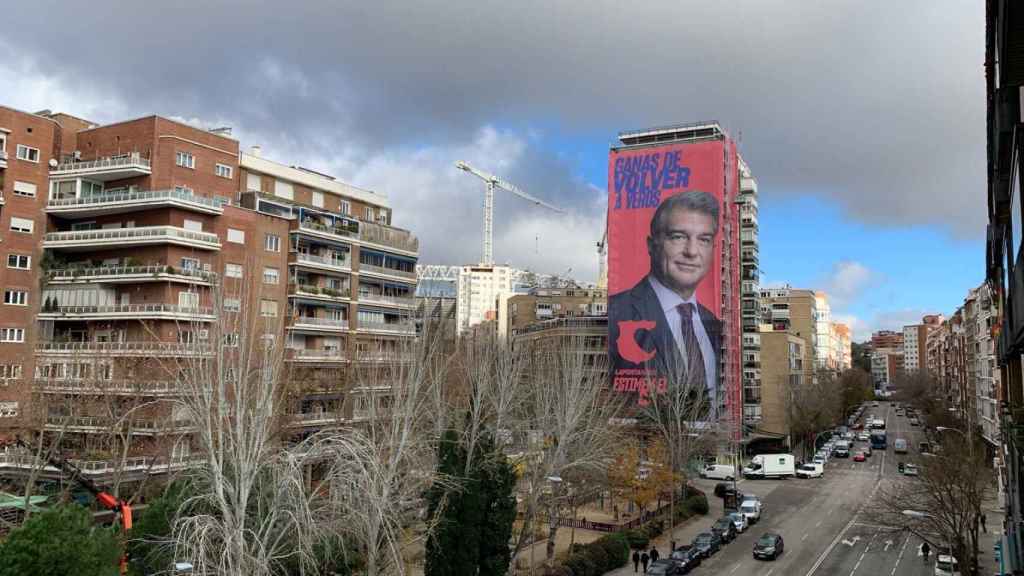
[[[122,549],[115,529],[97,526],[82,506],[60,504],[0,544],[0,576],[116,576]]]

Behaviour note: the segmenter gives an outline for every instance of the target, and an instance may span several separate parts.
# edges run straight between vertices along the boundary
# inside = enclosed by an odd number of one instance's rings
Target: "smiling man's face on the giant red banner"
[[[647,239],[654,278],[683,298],[693,295],[715,255],[715,221],[710,214],[677,208]]]

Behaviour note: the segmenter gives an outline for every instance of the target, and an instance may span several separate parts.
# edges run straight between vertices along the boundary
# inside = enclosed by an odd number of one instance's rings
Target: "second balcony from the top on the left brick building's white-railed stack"
[[[103,193],[80,198],[51,198],[46,212],[55,215],[91,217],[100,214],[121,214],[151,208],[182,208],[204,214],[224,212],[223,202],[188,194],[180,190],[128,191]]]

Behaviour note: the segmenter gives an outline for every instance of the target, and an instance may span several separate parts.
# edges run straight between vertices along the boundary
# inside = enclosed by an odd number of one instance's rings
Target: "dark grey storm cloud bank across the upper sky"
[[[109,85],[140,113],[230,119],[279,149],[354,162],[464,143],[485,124],[610,139],[713,118],[742,132],[766,195],[983,230],[977,2],[183,4],[22,3],[5,36],[70,85]],[[555,172],[518,166],[510,177],[565,204],[586,196],[571,174],[532,181]]]

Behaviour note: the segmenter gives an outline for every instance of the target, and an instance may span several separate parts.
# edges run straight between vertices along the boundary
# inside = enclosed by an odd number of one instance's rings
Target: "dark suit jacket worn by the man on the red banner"
[[[715,369],[718,367],[718,356],[722,351],[722,321],[705,306],[697,304],[700,323],[703,324],[712,349],[715,351]],[[618,351],[618,322],[629,320],[654,321],[653,330],[640,330],[635,333],[637,344],[646,352],[653,351],[654,358],[642,364],[634,364],[622,357]],[[608,300],[608,349],[611,357],[612,370],[618,368],[646,368],[663,375],[682,374],[685,366],[679,346],[672,336],[669,321],[662,311],[662,302],[654,293],[648,277],[625,292],[620,292]]]

